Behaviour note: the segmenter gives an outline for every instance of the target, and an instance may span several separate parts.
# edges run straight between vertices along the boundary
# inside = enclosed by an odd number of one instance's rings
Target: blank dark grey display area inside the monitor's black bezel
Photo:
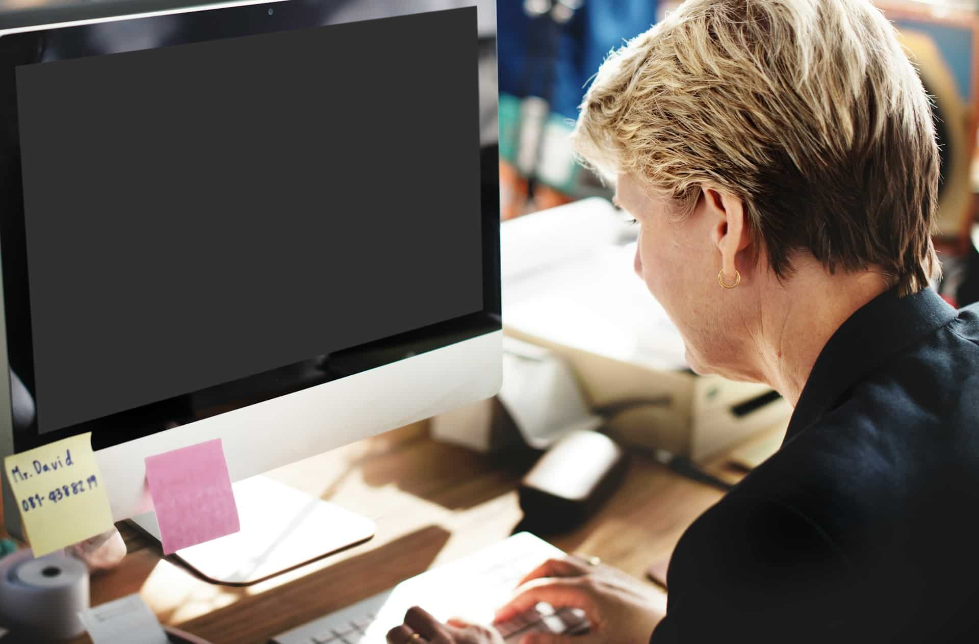
[[[39,432],[482,310],[476,28],[17,69]]]

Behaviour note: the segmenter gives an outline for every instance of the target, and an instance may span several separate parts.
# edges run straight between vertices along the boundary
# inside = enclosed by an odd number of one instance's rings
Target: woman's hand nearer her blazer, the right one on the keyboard
[[[590,622],[587,635],[574,638],[534,633],[522,644],[648,642],[666,614],[666,595],[610,566],[590,565],[569,556],[551,559],[524,577],[516,596],[496,612],[507,621],[545,602],[554,608],[579,608]]]

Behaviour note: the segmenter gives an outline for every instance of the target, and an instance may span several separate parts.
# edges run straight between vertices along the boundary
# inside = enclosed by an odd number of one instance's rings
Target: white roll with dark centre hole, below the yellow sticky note
[[[37,639],[70,639],[84,632],[78,611],[88,608],[88,570],[80,561],[30,550],[0,559],[0,625]]]

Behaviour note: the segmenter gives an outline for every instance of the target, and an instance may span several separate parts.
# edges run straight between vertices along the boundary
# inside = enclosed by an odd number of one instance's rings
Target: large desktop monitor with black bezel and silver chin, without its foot
[[[497,391],[486,3],[27,5],[0,457],[91,432],[118,521],[147,456],[220,438],[238,481]]]

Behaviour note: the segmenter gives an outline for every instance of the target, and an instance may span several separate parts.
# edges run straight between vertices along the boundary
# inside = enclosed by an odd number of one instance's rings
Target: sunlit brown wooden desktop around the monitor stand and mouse
[[[253,586],[228,587],[191,575],[120,524],[129,554],[116,570],[93,576],[92,605],[138,592],[160,621],[212,644],[266,644],[276,633],[506,538],[521,520],[515,488],[532,464],[437,443],[425,424],[352,443],[267,476],[371,517],[377,522],[371,541]],[[643,578],[721,496],[636,456],[597,516],[548,540]]]

